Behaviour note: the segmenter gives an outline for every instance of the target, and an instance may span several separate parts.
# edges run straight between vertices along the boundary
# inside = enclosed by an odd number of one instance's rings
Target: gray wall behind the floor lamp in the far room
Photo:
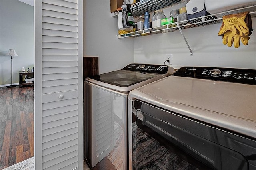
[[[19,71],[34,67],[34,8],[17,0],[0,0],[0,86],[11,84],[11,59],[5,56],[15,49],[12,59],[12,83],[19,83]]]

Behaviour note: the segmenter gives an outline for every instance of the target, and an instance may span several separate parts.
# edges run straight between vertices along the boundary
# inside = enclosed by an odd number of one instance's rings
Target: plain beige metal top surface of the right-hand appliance
[[[170,76],[131,91],[129,99],[256,138],[256,85]]]

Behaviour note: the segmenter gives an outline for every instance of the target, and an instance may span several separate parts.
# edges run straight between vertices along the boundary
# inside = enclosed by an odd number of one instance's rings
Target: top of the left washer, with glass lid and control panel
[[[135,88],[172,75],[172,73],[174,69],[167,65],[132,63],[121,70],[88,77],[85,81],[129,93]]]

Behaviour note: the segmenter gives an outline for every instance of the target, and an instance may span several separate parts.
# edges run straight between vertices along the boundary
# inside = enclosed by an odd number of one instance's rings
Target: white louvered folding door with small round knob
[[[80,8],[82,0],[35,1],[36,170],[82,169]]]

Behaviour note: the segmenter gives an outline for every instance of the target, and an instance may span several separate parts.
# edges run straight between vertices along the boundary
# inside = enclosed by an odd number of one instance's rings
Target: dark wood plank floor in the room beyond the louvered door
[[[0,170],[34,156],[33,87],[0,88]]]

